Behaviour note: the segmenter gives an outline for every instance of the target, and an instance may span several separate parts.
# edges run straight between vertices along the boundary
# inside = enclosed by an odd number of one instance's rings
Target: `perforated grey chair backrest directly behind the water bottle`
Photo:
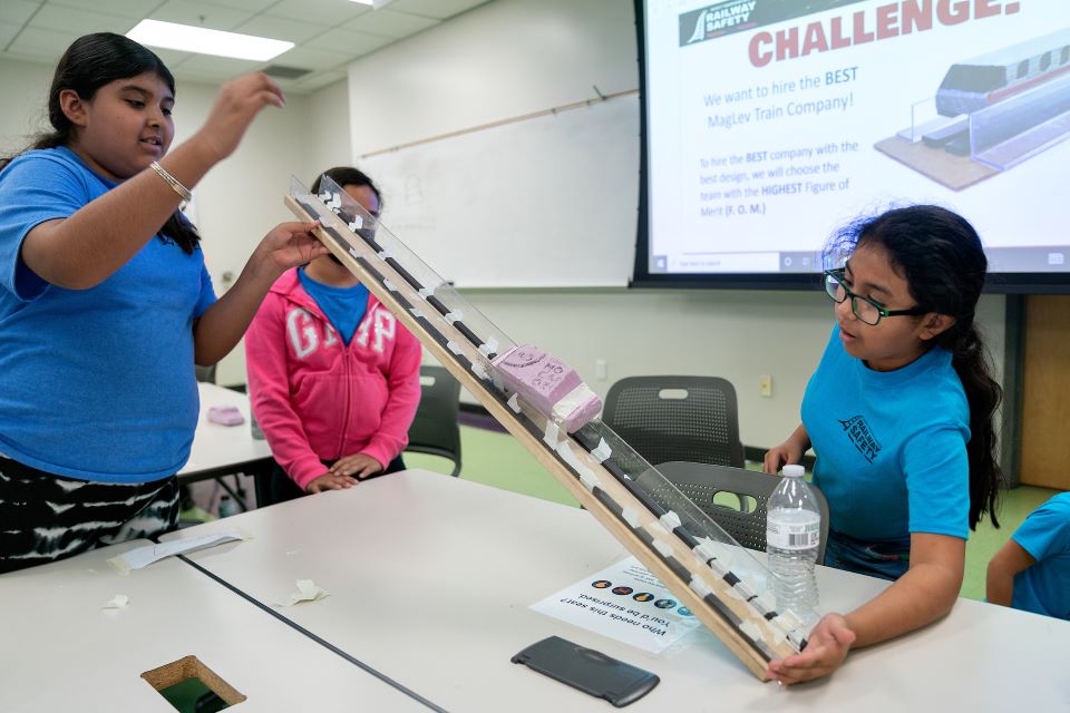
[[[680,461],[661,463],[658,471],[740,545],[766,550],[766,504],[780,484],[780,476]],[[809,485],[821,511],[821,544],[817,551],[820,564],[828,540],[828,502],[817,486]]]

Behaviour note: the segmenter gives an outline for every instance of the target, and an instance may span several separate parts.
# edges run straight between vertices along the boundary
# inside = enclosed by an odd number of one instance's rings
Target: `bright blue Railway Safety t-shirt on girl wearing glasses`
[[[902,369],[873,371],[834,328],[802,424],[833,530],[872,543],[969,536],[970,407],[951,352],[932,348]]]

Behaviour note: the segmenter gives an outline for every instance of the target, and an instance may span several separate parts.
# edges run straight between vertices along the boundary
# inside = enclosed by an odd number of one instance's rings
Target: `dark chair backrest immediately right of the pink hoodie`
[[[406,450],[454,461],[451,476],[460,475],[460,382],[445,367],[420,367],[420,406],[409,427]]]

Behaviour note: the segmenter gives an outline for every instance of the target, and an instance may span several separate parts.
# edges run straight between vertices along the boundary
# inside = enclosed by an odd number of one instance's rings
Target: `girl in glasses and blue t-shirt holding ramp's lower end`
[[[995,524],[1002,476],[992,414],[1001,390],[974,324],[988,262],[961,216],[917,205],[859,221],[826,253],[836,328],[807,385],[802,424],[765,470],[810,447],[829,504],[825,564],[894,579],[847,615],[829,614],[806,649],[769,675],[797,683],[835,671],[849,648],[951,611],[969,528]]]

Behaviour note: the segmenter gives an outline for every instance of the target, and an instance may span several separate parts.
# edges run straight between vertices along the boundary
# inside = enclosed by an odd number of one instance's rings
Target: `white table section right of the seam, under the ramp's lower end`
[[[261,600],[313,579],[331,596],[286,616],[450,711],[610,710],[509,662],[554,634],[658,674],[636,713],[1070,710],[1070,624],[977,602],[792,688],[760,683],[704,629],[652,655],[536,614],[531,604],[625,550],[580,509],[438,473],[396,473],[165,539],[221,527],[254,539],[192,559]],[[825,567],[818,577],[823,608],[838,611],[887,586]]]

